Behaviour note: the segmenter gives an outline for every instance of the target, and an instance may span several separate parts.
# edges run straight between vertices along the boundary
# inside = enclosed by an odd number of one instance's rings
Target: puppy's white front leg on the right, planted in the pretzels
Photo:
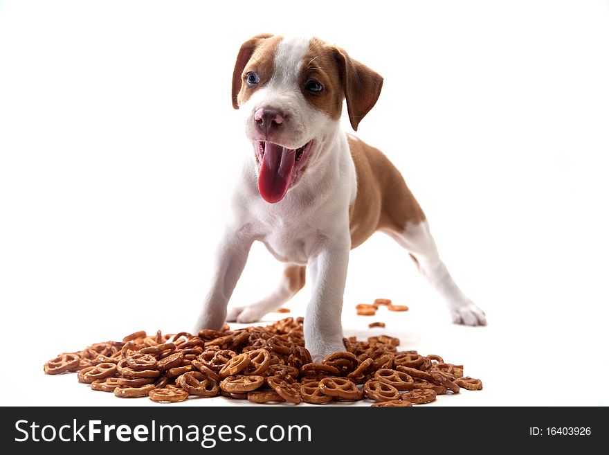
[[[333,236],[325,242],[320,253],[308,263],[313,289],[305,313],[305,346],[313,362],[345,350],[340,316],[351,238],[347,230],[347,235]]]

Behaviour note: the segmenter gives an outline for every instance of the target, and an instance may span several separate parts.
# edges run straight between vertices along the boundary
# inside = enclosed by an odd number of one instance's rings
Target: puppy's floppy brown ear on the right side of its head
[[[355,131],[362,118],[374,107],[379,99],[383,78],[376,71],[356,62],[343,51],[335,48],[336,61],[343,82],[349,121]]]

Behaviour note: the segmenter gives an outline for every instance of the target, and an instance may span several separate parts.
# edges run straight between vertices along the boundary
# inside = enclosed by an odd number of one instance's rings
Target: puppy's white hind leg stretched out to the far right
[[[410,253],[421,274],[444,297],[454,323],[487,325],[484,312],[459,289],[448,273],[446,265],[440,260],[426,220],[418,223],[408,222],[402,231],[395,229],[383,229],[383,231]]]

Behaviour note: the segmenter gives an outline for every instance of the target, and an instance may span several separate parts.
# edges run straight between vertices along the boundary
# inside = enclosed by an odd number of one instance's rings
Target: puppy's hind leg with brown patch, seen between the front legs
[[[251,323],[260,321],[266,313],[277,310],[305,286],[305,265],[287,265],[279,286],[275,291],[252,305],[233,307],[228,310],[229,322]]]

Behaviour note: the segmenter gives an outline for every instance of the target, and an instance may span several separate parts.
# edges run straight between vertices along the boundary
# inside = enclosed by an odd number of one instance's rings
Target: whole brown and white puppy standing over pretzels
[[[344,350],[340,314],[349,250],[375,231],[388,233],[410,253],[455,323],[486,325],[484,312],[440,260],[426,217],[399,171],[379,150],[340,127],[343,100],[357,130],[382,84],[380,75],[320,39],[257,35],[242,45],[233,73],[233,107],[244,114],[253,151],[235,188],[234,216],[217,252],[197,329],[219,329],[227,319],[259,320],[305,285],[308,267],[312,295],[305,344],[315,359]],[[281,159],[304,147],[284,195],[279,190],[269,196],[260,177],[264,150],[273,144],[283,147]],[[255,240],[286,264],[280,285],[268,298],[227,314]]]

